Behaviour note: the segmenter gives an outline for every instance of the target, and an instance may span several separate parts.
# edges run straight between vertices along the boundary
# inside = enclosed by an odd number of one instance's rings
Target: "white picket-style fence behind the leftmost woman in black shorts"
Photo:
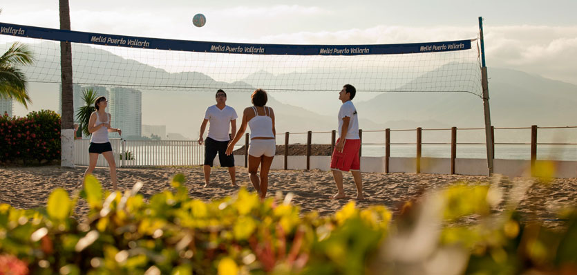
[[[184,166],[204,162],[205,146],[192,140],[111,139],[110,142],[117,167]],[[90,140],[75,140],[75,165],[88,165],[88,146]],[[99,155],[96,166],[108,167],[108,162]]]

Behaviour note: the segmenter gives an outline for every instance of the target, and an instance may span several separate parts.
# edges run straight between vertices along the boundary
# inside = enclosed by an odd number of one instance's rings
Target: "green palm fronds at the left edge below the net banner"
[[[32,103],[26,90],[27,78],[19,66],[32,64],[32,51],[16,42],[0,57],[0,98],[14,99],[28,108]]]

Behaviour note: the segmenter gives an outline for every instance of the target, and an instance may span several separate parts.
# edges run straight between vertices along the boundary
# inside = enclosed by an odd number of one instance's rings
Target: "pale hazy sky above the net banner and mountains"
[[[0,21],[59,28],[58,1],[0,4]],[[201,41],[396,44],[477,37],[486,64],[577,84],[576,0],[70,1],[73,30]],[[202,13],[207,23],[192,25]],[[16,106],[15,106],[16,107]],[[15,110],[16,111],[16,110]]]

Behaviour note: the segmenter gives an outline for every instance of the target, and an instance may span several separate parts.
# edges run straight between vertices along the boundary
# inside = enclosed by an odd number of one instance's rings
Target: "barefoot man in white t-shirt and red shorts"
[[[357,200],[364,200],[363,181],[361,178],[361,161],[359,149],[361,138],[359,137],[359,118],[357,108],[354,108],[352,99],[357,93],[352,85],[346,84],[339,93],[339,99],[343,102],[339,110],[339,140],[334,146],[330,160],[330,169],[337,184],[338,193],[332,198],[346,198],[343,189],[343,171],[352,173],[354,184],[357,185]]]

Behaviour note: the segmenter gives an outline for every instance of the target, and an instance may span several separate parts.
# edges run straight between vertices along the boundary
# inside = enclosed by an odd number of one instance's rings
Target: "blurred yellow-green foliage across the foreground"
[[[240,189],[233,198],[189,198],[185,178],[145,202],[95,178],[44,209],[0,205],[0,274],[575,274],[577,211],[551,231],[521,225],[501,189],[458,184],[408,202],[391,222],[381,206],[348,203],[330,217]],[[73,216],[86,201],[86,222]],[[506,205],[501,214],[491,214]],[[455,222],[471,216],[475,225]],[[28,270],[26,270],[28,269]],[[533,273],[532,273],[533,274]]]

